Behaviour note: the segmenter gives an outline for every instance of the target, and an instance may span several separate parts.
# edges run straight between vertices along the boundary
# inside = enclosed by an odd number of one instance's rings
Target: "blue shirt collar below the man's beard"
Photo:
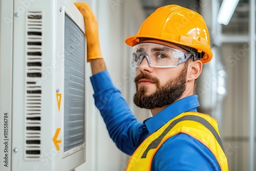
[[[170,104],[167,108],[144,121],[150,134],[156,132],[169,120],[184,112],[197,112],[199,106],[198,95],[191,95]]]

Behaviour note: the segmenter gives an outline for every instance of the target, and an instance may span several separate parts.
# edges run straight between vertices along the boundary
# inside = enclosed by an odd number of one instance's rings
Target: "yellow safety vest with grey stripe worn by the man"
[[[221,170],[228,170],[217,121],[197,112],[182,113],[148,136],[131,156],[126,170],[151,170],[157,150],[168,138],[179,133],[187,134],[204,144],[215,156]]]

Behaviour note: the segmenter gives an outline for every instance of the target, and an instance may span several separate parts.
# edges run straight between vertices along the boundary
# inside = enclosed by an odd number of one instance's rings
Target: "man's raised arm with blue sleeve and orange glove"
[[[131,155],[138,140],[138,127],[142,123],[134,117],[106,71],[100,51],[98,23],[92,10],[87,4],[75,3],[75,5],[82,13],[86,24],[87,61],[91,62],[95,105],[117,147]]]

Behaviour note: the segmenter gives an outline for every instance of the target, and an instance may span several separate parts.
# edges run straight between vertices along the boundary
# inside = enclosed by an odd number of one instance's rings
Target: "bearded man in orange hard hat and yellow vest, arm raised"
[[[134,103],[153,115],[141,123],[106,71],[93,12],[87,4],[75,5],[86,23],[95,105],[117,147],[132,155],[127,170],[228,170],[217,121],[197,112],[194,95],[202,63],[212,58],[202,16],[164,6],[125,40],[136,68]]]

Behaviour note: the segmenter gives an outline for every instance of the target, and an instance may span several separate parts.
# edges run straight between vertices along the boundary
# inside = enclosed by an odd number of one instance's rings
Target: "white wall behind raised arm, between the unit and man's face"
[[[90,5],[98,20],[101,51],[114,84],[132,105],[134,72],[131,68],[131,48],[124,39],[137,33],[145,16],[138,0],[80,1]],[[90,63],[88,73],[91,76]],[[88,76],[87,154],[81,170],[125,170],[130,156],[115,146],[106,130],[103,119],[94,105],[93,90]]]

